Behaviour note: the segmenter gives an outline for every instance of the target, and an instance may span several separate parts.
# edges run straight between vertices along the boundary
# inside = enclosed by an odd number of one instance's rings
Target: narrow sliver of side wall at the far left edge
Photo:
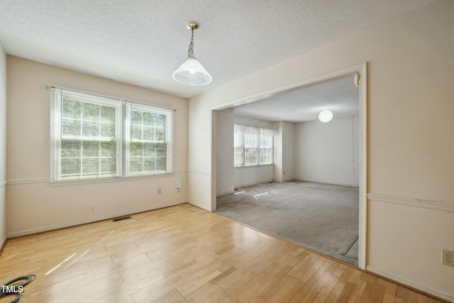
[[[0,249],[6,241],[6,53],[0,44]]]

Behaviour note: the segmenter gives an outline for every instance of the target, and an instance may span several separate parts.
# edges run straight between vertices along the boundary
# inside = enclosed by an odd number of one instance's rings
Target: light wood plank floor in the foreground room
[[[25,302],[439,302],[189,204],[10,239]],[[12,296],[0,299],[11,302]]]

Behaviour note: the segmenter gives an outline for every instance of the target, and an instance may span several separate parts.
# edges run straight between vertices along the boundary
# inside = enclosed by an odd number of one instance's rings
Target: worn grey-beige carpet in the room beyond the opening
[[[358,266],[358,187],[272,182],[217,198],[217,213]]]

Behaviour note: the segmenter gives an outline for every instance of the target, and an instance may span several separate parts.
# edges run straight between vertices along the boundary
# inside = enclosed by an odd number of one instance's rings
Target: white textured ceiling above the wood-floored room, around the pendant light
[[[192,97],[433,0],[1,0],[6,53]],[[213,77],[187,87],[172,72],[194,55]]]

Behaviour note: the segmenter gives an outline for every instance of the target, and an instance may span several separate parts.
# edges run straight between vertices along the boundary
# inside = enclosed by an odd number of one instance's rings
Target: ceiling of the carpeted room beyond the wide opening
[[[359,98],[359,88],[351,76],[236,106],[234,113],[267,121],[297,123],[318,120],[320,111],[329,109],[334,117],[347,119],[359,115]]]

